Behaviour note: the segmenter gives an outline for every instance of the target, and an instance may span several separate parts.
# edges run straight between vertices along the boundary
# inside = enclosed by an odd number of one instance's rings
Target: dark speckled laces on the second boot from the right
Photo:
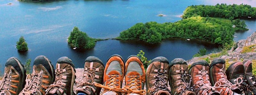
[[[240,88],[240,91],[243,92],[243,95],[247,95],[247,93],[252,92],[253,87],[251,85],[247,85],[246,83],[243,84],[243,82],[246,82],[246,79],[243,75],[240,75],[235,80],[236,86]]]

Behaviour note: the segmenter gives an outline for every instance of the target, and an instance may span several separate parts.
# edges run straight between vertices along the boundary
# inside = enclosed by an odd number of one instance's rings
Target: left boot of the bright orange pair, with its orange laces
[[[95,83],[96,87],[104,88],[103,95],[121,95],[124,79],[124,61],[120,55],[112,55],[104,70],[104,85]]]

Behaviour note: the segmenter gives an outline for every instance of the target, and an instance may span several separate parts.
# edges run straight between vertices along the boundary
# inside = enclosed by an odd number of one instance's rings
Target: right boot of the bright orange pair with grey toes
[[[146,94],[144,84],[146,82],[146,74],[143,63],[136,55],[131,55],[125,63],[125,88],[127,95],[131,93]]]

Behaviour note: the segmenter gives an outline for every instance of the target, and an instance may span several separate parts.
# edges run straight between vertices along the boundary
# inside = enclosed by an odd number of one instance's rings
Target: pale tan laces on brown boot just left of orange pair
[[[84,85],[83,89],[86,90],[86,88],[91,88],[93,92],[96,90],[92,87],[94,86],[94,78],[100,78],[100,76],[94,74],[94,72],[99,71],[99,68],[92,68],[93,71],[88,70],[87,67],[85,67],[84,76],[83,78],[85,80],[81,80],[82,82],[76,82],[77,84]],[[86,72],[87,71],[87,72]],[[89,82],[91,80],[91,82]],[[78,86],[78,85],[77,85]]]

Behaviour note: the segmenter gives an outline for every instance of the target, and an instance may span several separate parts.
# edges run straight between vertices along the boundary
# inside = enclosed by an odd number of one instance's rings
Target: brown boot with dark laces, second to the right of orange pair
[[[188,64],[184,59],[176,58],[169,64],[169,84],[172,95],[196,95],[191,86]]]

